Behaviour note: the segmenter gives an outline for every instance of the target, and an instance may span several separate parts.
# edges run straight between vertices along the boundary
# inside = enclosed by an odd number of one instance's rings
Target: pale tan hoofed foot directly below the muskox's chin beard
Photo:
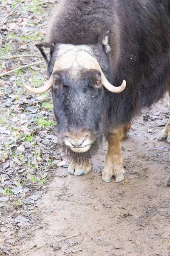
[[[82,165],[74,164],[71,162],[71,164],[68,166],[68,173],[75,176],[85,175],[90,171],[91,171],[91,163],[85,163],[82,166]]]

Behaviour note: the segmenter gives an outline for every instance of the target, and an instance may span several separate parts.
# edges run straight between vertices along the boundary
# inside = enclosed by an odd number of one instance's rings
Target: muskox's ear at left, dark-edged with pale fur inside
[[[36,47],[40,50],[45,61],[48,63],[51,60],[52,54],[54,52],[54,44],[51,43],[39,43]]]

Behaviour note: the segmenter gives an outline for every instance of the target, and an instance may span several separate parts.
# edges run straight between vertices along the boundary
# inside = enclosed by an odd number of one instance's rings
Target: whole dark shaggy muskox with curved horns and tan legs
[[[47,43],[36,44],[48,64],[60,143],[68,172],[84,175],[104,136],[102,179],[124,179],[120,140],[130,121],[170,91],[170,0],[61,0]],[[170,119],[159,139],[170,142]]]

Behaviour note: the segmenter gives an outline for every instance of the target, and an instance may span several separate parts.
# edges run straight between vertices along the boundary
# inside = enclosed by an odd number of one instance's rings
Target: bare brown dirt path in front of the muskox
[[[165,99],[147,112],[154,121],[143,121],[142,115],[133,122],[122,142],[126,172],[122,183],[102,181],[105,151],[97,154],[88,175],[54,177],[37,210],[42,228],[22,240],[19,255],[35,244],[77,233],[57,244],[62,249],[54,251],[48,244],[30,255],[170,255],[170,147],[156,140],[162,129],[156,123],[168,111]],[[61,173],[66,169],[57,169],[56,174]]]

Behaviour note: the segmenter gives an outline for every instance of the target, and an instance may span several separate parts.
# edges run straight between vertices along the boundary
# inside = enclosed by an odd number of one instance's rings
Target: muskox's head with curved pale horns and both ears
[[[101,136],[105,88],[119,93],[126,86],[123,81],[114,87],[102,72],[108,65],[108,40],[109,33],[100,38],[101,45],[37,44],[50,78],[41,88],[25,86],[32,93],[52,88],[60,142],[76,153],[89,151]]]

